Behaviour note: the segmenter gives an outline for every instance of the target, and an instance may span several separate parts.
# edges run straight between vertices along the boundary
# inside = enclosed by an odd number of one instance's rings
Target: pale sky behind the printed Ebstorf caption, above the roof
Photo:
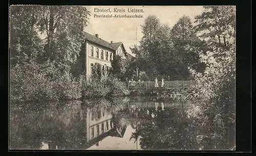
[[[194,17],[203,11],[203,6],[85,6],[90,12],[89,24],[84,31],[94,35],[99,34],[99,37],[106,41],[123,42],[125,50],[131,53],[130,48],[136,44],[136,28],[137,28],[137,44],[141,40],[143,34],[141,25],[148,15],[156,15],[160,19],[161,24],[167,24],[173,27],[179,18],[183,15],[189,16],[192,21]],[[112,13],[94,12],[94,8],[108,9]],[[125,12],[116,13],[114,8],[124,9]],[[142,13],[127,12],[128,8],[143,9]],[[143,15],[143,18],[102,18],[94,17],[97,15],[108,14],[126,14],[126,15]]]

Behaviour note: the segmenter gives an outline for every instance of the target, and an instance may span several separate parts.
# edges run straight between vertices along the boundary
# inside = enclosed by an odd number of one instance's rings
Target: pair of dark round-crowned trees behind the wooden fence
[[[204,41],[196,36],[189,17],[182,16],[171,29],[156,16],[148,16],[142,33],[140,45],[131,51],[136,54],[137,67],[145,71],[148,79],[187,80],[191,79],[188,66],[204,69],[198,61]],[[197,51],[193,51],[194,47]]]

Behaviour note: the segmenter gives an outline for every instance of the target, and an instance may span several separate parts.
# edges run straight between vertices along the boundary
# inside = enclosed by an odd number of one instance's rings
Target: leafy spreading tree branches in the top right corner
[[[236,14],[233,6],[204,6],[195,17],[196,29],[201,37],[217,37],[220,46],[227,47],[236,36]]]

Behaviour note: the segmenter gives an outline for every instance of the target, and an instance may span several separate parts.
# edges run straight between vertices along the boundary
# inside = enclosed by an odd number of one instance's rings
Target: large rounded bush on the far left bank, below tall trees
[[[53,64],[30,62],[15,65],[10,71],[12,101],[79,99],[81,82],[70,73],[61,74]]]

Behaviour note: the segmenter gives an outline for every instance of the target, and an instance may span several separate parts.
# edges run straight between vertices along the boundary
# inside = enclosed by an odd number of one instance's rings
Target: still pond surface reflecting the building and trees
[[[209,150],[191,129],[189,102],[159,99],[97,99],[10,106],[10,149]],[[234,137],[231,137],[234,138]]]

